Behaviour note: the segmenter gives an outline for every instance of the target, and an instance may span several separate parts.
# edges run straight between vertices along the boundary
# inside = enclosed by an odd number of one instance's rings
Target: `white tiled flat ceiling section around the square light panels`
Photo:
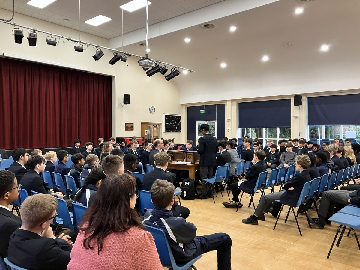
[[[15,0],[15,12],[79,30],[79,1],[57,0],[43,9],[28,5],[30,0]],[[149,25],[201,9],[223,0],[151,0]],[[122,34],[122,9],[119,6],[130,0],[80,0],[81,31],[111,39]],[[0,0],[0,8],[12,10],[13,0]],[[100,26],[84,23],[104,15],[112,20]],[[123,13],[123,33],[145,27],[145,8]],[[65,20],[65,21],[64,21]]]

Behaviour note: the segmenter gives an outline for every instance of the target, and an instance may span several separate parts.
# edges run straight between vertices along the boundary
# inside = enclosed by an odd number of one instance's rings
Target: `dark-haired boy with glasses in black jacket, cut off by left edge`
[[[21,218],[15,216],[8,208],[19,196],[18,181],[10,171],[0,171],[0,255],[8,257],[9,239],[13,232],[20,228]]]

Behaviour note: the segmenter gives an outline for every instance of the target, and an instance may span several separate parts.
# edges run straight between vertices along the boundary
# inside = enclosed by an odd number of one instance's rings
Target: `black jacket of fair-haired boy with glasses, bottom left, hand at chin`
[[[70,246],[64,239],[44,238],[32,231],[17,229],[10,237],[8,259],[26,269],[66,269]]]

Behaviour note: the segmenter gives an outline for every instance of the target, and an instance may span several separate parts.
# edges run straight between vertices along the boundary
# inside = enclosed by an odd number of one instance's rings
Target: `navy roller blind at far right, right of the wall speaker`
[[[360,125],[360,94],[307,98],[307,124]]]

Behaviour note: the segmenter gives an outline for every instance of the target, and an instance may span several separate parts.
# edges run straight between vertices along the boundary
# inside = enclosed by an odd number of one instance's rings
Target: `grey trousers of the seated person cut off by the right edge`
[[[350,204],[348,199],[350,198],[349,194],[351,192],[352,191],[348,190],[329,190],[323,192],[318,215],[330,218],[334,213],[335,203]]]

